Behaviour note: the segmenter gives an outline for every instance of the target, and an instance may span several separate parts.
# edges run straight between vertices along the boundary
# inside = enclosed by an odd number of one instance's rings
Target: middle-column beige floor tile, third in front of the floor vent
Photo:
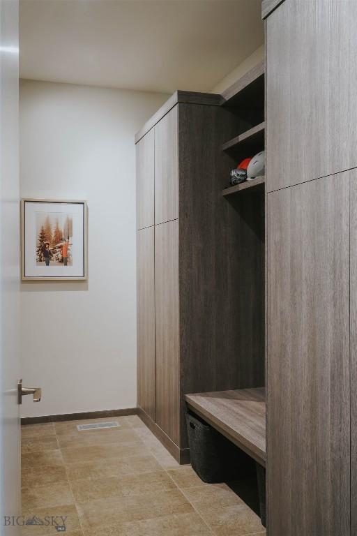
[[[132,456],[126,460],[112,458],[84,463],[70,463],[66,466],[68,478],[73,480],[88,478],[123,477],[144,472],[160,471],[161,466],[153,456]]]

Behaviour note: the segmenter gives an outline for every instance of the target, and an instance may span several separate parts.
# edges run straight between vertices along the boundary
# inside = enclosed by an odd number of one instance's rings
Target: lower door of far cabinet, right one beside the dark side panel
[[[156,422],[179,445],[179,222],[155,225]],[[180,446],[180,445],[179,445]]]

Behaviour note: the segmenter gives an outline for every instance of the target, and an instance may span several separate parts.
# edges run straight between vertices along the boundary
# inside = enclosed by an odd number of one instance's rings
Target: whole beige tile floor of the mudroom
[[[78,431],[116,420],[120,428]],[[137,416],[22,426],[22,513],[66,516],[68,536],[262,536],[259,517],[226,484],[179,466]],[[26,536],[61,534],[54,526]]]

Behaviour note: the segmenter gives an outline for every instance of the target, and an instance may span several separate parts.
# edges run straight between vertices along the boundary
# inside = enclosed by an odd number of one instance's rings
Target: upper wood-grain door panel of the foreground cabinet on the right
[[[287,0],[268,17],[267,191],[351,168],[351,5]]]

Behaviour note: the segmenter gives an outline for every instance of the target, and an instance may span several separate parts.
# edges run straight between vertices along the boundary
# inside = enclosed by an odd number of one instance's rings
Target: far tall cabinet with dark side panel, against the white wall
[[[263,319],[238,304],[264,299],[261,215],[221,194],[232,165],[222,144],[241,124],[221,102],[178,91],[136,137],[139,415],[181,463],[184,394],[264,385]]]

